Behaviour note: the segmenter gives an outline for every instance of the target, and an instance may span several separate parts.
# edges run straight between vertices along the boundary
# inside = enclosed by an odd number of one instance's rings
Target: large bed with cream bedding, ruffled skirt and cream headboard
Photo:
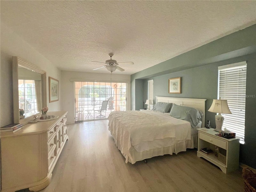
[[[205,101],[205,99],[156,97],[156,102],[190,106],[202,111],[204,114],[202,121],[196,128],[204,126]],[[169,114],[150,110],[113,112],[109,116],[108,126],[126,163],[134,164],[154,156],[177,154],[186,151],[187,148],[197,147],[196,128],[192,128],[189,122],[173,118]]]

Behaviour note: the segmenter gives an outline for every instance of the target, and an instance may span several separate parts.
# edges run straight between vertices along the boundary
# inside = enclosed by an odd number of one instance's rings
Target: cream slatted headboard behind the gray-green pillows
[[[204,114],[202,118],[202,127],[205,127],[205,101],[206,99],[160,97],[156,96],[156,102],[174,103],[176,105],[185,105],[196,108]]]

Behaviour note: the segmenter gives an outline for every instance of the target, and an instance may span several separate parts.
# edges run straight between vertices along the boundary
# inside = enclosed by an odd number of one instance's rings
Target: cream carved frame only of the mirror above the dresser
[[[34,71],[41,74],[42,76],[42,107],[47,106],[46,72],[16,56],[12,57],[13,118],[14,118],[14,123],[22,123],[25,125],[28,122],[34,120],[37,116],[39,116],[41,112],[33,114],[32,116],[26,117],[24,119],[20,119],[18,66],[22,66],[30,71]]]

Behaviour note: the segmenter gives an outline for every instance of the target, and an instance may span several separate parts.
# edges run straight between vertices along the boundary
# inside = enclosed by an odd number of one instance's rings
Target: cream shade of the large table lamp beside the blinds
[[[228,108],[228,101],[220,99],[214,99],[208,111],[214,113],[232,114]]]

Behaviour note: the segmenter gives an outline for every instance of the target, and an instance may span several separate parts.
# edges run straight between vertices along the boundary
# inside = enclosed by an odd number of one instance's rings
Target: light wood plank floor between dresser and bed
[[[242,192],[242,171],[224,174],[196,150],[126,164],[108,120],[68,124],[69,139],[42,192]],[[26,191],[26,190],[22,190]]]

